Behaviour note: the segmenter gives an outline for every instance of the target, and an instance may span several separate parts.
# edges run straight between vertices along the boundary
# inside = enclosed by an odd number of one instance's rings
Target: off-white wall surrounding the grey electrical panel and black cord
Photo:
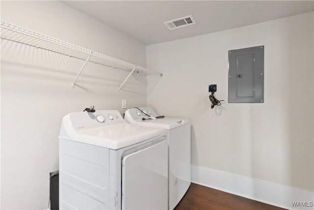
[[[191,119],[192,164],[313,191],[313,12],[147,46],[147,104]],[[180,30],[180,29],[178,29]],[[228,99],[228,50],[265,46],[264,103]],[[214,181],[214,180],[212,180]]]

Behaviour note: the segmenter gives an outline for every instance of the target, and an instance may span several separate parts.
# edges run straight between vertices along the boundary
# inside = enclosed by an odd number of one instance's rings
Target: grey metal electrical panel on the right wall
[[[264,102],[264,46],[230,50],[229,103]]]

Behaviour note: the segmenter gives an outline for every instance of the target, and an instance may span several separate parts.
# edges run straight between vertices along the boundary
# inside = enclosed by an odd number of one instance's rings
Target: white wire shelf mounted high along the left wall
[[[28,46],[35,47],[37,49],[48,50],[54,53],[69,56],[71,58],[86,60],[86,63],[94,62],[97,64],[112,67],[114,69],[129,71],[131,73],[135,72],[141,75],[159,74],[158,72],[151,71],[142,66],[138,66],[123,60],[115,59],[110,56],[106,56],[104,54],[97,53],[95,51],[80,47],[78,45],[71,44],[69,42],[65,42],[60,39],[56,39],[51,36],[47,36],[32,30],[28,30],[23,27],[19,27],[4,21],[0,21],[0,28],[1,39],[25,44]],[[84,68],[84,66],[85,65],[83,65],[82,69]],[[79,74],[81,73],[82,69],[80,70]],[[73,82],[73,85],[75,85],[75,81]]]

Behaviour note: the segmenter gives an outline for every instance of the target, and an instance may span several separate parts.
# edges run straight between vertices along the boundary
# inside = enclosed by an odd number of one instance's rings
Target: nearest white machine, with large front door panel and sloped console
[[[167,209],[167,131],[129,124],[118,111],[66,115],[59,136],[59,206]]]

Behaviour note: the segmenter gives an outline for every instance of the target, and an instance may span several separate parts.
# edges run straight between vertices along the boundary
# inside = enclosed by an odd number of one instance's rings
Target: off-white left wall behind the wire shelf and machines
[[[146,65],[146,47],[59,1],[1,1],[1,20]],[[47,209],[62,117],[95,105],[146,105],[146,78],[1,40],[1,208]]]

